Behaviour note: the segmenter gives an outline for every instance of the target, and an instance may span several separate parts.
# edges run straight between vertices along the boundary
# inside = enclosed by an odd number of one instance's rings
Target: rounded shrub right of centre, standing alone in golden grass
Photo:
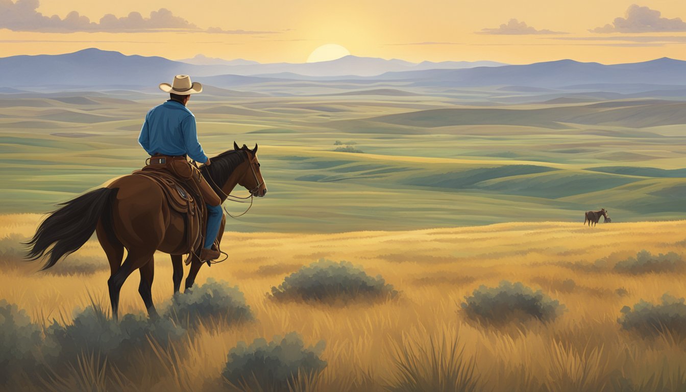
[[[471,297],[464,297],[467,316],[492,324],[536,318],[552,321],[565,311],[565,305],[550,299],[541,290],[534,292],[521,283],[501,281],[495,288],[480,286]]]

